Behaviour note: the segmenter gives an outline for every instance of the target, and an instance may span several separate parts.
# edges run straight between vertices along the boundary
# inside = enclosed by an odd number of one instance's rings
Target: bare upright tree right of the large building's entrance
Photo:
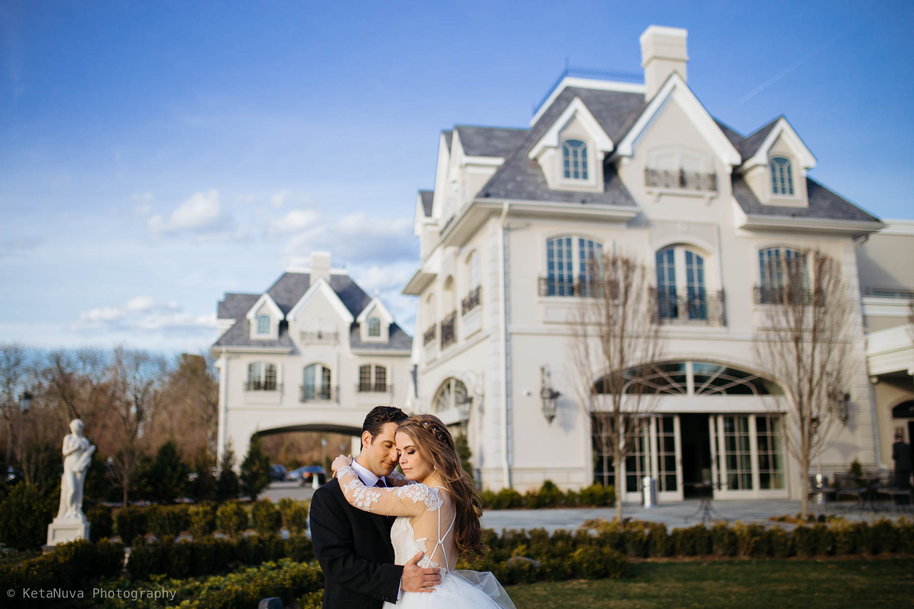
[[[850,302],[840,263],[815,249],[771,262],[770,285],[757,289],[765,306],[755,347],[762,366],[781,383],[771,405],[783,412],[783,440],[800,466],[801,513],[808,508],[813,459],[834,440],[836,407],[850,369]]]

